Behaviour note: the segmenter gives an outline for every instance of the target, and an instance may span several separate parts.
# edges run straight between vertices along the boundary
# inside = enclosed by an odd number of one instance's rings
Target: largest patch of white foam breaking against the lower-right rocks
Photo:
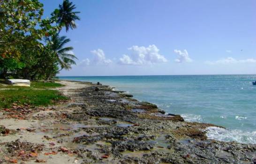
[[[209,139],[224,142],[240,142],[256,144],[256,131],[245,132],[241,130],[228,130],[220,127],[207,127],[205,130]]]

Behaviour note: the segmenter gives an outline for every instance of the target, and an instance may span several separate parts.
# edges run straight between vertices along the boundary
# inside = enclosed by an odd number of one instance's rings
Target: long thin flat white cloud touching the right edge
[[[225,59],[217,61],[205,61],[206,64],[237,64],[237,63],[256,63],[256,59],[246,59],[246,60],[236,60],[232,57],[227,57]]]

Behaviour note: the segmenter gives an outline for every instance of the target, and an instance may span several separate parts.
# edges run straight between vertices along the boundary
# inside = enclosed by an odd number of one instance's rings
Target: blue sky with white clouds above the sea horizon
[[[256,0],[71,1],[78,60],[59,76],[256,74]]]

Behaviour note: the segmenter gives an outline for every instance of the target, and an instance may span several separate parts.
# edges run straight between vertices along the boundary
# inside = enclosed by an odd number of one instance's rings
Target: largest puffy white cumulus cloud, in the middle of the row
[[[148,47],[133,45],[128,48],[131,55],[123,55],[119,59],[119,64],[124,65],[144,65],[167,62],[163,55],[159,54],[159,49],[156,45],[149,45]]]

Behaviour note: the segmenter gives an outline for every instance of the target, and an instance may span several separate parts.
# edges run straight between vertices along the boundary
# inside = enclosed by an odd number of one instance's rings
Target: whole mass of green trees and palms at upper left
[[[70,40],[59,37],[63,27],[74,29],[75,5],[64,0],[50,18],[42,19],[38,0],[0,0],[0,68],[3,76],[14,71],[27,79],[49,79],[75,64],[75,55],[64,47]]]

